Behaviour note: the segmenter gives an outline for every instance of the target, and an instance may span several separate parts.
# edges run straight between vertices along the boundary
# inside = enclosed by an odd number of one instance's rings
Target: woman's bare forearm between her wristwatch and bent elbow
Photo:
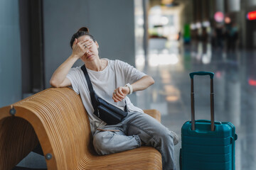
[[[154,79],[150,76],[144,76],[142,79],[139,79],[138,81],[134,82],[132,85],[133,91],[142,91],[149,86],[154,84]]]

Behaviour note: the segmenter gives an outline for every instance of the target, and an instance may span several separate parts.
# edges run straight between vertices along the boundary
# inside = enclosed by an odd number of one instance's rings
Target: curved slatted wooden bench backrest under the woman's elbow
[[[16,111],[14,116],[10,115],[11,108]],[[48,169],[73,169],[81,157],[93,154],[87,113],[80,96],[72,89],[46,89],[12,106],[0,108],[0,135],[4,130],[1,122],[8,117],[23,118],[26,120],[23,122],[32,125],[46,156]],[[0,142],[0,145],[6,144]],[[8,145],[2,147],[15,144]],[[3,155],[1,152],[0,146]]]

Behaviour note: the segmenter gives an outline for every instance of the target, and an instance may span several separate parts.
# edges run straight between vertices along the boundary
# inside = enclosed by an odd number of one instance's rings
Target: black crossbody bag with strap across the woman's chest
[[[117,123],[122,122],[122,120],[127,116],[127,105],[124,107],[124,111],[113,106],[110,103],[107,103],[103,98],[100,98],[95,93],[92,82],[90,81],[90,77],[87,73],[87,69],[85,65],[81,67],[82,72],[85,74],[85,79],[88,84],[88,88],[90,91],[90,98],[92,101],[92,107],[94,108],[94,113],[98,118],[103,120],[108,125],[116,125]]]

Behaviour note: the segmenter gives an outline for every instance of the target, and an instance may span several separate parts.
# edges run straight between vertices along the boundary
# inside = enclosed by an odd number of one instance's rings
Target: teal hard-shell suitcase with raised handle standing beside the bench
[[[193,76],[210,76],[210,120],[195,120]],[[213,72],[193,72],[191,77],[191,121],[181,128],[180,169],[235,170],[235,126],[214,122]]]

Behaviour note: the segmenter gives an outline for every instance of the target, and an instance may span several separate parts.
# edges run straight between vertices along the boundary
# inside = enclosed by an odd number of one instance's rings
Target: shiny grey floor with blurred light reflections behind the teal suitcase
[[[211,50],[210,45],[196,44],[181,48],[176,56],[176,63],[149,62],[144,67],[144,72],[154,78],[155,84],[146,91],[137,92],[137,106],[161,111],[161,122],[181,137],[181,126],[191,119],[191,81],[188,74],[214,72],[215,121],[229,121],[235,125],[238,134],[236,169],[256,169],[256,52],[225,52]],[[209,120],[210,80],[208,77],[195,77],[194,86],[196,119]],[[181,141],[176,145],[177,167],[180,148]]]

